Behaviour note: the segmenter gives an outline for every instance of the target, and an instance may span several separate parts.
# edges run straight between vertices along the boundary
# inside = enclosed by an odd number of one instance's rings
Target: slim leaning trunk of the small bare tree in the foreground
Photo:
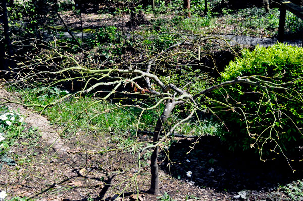
[[[156,144],[159,141],[159,135],[163,128],[164,123],[166,122],[167,118],[169,117],[170,113],[174,109],[174,103],[167,103],[165,105],[164,111],[162,112],[161,116],[159,117],[155,129],[154,129],[154,137],[153,143]],[[151,168],[151,185],[149,192],[153,194],[160,194],[159,191],[159,174],[158,174],[158,146],[156,146],[151,154],[150,158],[150,168]]]

